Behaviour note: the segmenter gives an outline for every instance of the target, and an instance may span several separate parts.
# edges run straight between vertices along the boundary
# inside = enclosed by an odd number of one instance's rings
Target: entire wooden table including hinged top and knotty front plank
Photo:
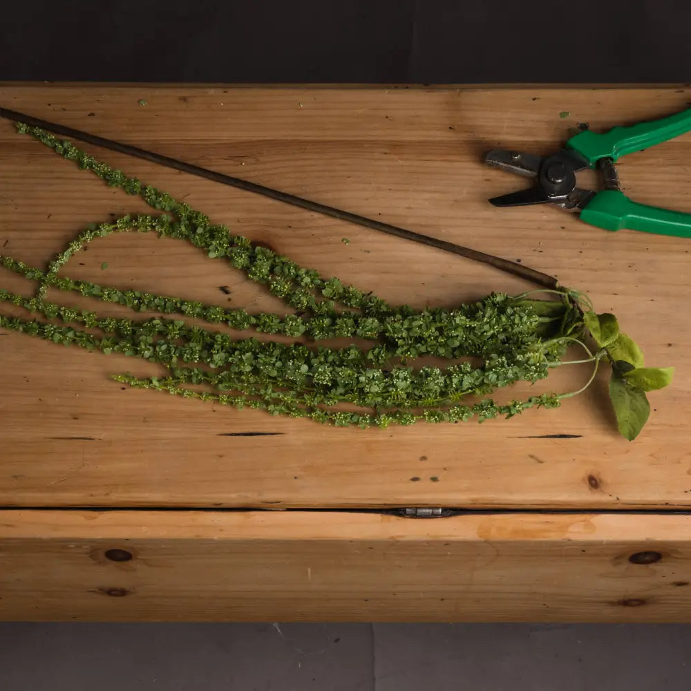
[[[609,233],[548,206],[495,209],[488,197],[524,183],[482,154],[547,153],[578,122],[600,131],[690,99],[675,88],[0,86],[8,108],[556,274],[617,314],[648,363],[677,368],[633,443],[616,434],[604,379],[558,410],[508,421],[363,431],[123,390],[108,375],[146,363],[0,332],[0,618],[688,621],[691,242]],[[526,285],[86,148],[394,303],[451,306]],[[630,155],[625,190],[689,211],[689,160],[691,135]],[[35,265],[86,223],[146,208],[6,121],[0,202],[1,252]],[[173,240],[109,236],[79,261],[70,276],[280,307]],[[2,287],[30,290],[1,275]],[[588,374],[564,368],[549,388]],[[392,513],[405,507],[460,512]],[[641,552],[659,554],[630,560]]]

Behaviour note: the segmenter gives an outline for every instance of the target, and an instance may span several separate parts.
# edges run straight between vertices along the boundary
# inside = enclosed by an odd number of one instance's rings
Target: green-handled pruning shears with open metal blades
[[[691,131],[691,108],[661,120],[614,127],[605,133],[585,129],[551,156],[494,149],[486,155],[486,164],[533,178],[536,184],[489,201],[496,207],[553,204],[580,212],[580,220],[605,230],[628,228],[691,238],[691,214],[632,201],[621,191],[614,167],[627,153],[643,151],[688,131]],[[603,191],[577,187],[576,173],[586,168],[603,173]]]

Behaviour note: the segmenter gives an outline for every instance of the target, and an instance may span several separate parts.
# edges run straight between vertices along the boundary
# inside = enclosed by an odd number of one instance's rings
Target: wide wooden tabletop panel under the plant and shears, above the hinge
[[[19,111],[520,258],[589,292],[599,310],[618,314],[648,363],[678,368],[674,386],[651,395],[651,421],[632,444],[614,431],[603,380],[560,410],[506,422],[339,430],[121,390],[108,379],[112,372],[155,372],[126,358],[2,334],[0,505],[688,507],[691,363],[683,354],[691,343],[691,245],[608,233],[551,207],[494,209],[489,196],[523,183],[486,169],[481,157],[497,145],[553,151],[577,122],[599,130],[659,117],[682,108],[690,94],[674,88],[0,86],[0,103]],[[94,153],[184,196],[234,231],[395,303],[450,306],[524,287],[432,249]],[[641,202],[690,209],[689,158],[691,136],[627,157],[621,164],[627,192]],[[8,122],[0,122],[0,190],[0,252],[38,265],[86,223],[145,208],[19,137]],[[68,265],[69,275],[252,310],[278,307],[223,263],[210,265],[172,240],[112,236],[93,243],[79,261],[84,265]],[[1,280],[17,285],[6,272]],[[221,285],[230,287],[229,296]],[[571,390],[588,374],[587,368],[562,370],[545,386]],[[527,391],[519,387],[516,395]],[[227,436],[248,432],[274,436]],[[558,437],[564,434],[570,436]]]

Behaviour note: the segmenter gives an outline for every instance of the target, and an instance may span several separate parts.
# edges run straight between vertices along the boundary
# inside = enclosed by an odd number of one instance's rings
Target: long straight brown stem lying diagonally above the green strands
[[[237,189],[242,189],[247,192],[261,194],[269,199],[284,202],[285,204],[290,204],[294,207],[300,207],[306,211],[312,211],[314,214],[322,214],[323,216],[338,218],[339,220],[361,225],[369,228],[370,230],[377,230],[381,233],[386,233],[397,238],[411,240],[414,243],[442,249],[444,252],[451,252],[451,254],[457,254],[458,256],[466,257],[468,259],[472,259],[473,261],[489,264],[490,266],[500,269],[501,271],[513,274],[515,276],[520,276],[520,278],[524,278],[527,281],[532,281],[533,283],[537,283],[543,287],[551,289],[558,287],[558,281],[553,276],[544,274],[536,269],[531,269],[530,267],[524,266],[517,262],[509,261],[509,259],[494,256],[493,254],[485,254],[484,252],[478,252],[476,249],[471,249],[470,247],[463,247],[462,245],[449,243],[446,240],[439,240],[438,238],[433,238],[422,233],[416,233],[415,231],[408,230],[406,228],[390,225],[389,223],[381,223],[381,221],[373,218],[367,218],[366,216],[360,216],[359,214],[352,214],[350,211],[343,211],[343,209],[337,209],[325,204],[320,204],[319,202],[313,202],[302,197],[294,196],[293,194],[289,194],[287,192],[282,192],[278,189],[265,187],[263,184],[256,184],[256,182],[249,182],[248,180],[235,178],[234,176],[229,176],[225,173],[218,173],[217,171],[202,168],[200,166],[178,160],[177,158],[170,158],[169,156],[164,156],[160,153],[146,151],[146,149],[140,149],[138,146],[131,146],[130,144],[115,142],[104,137],[99,137],[98,135],[73,129],[72,127],[56,124],[54,122],[48,122],[47,120],[41,120],[38,117],[32,117],[32,115],[11,111],[8,108],[0,108],[0,117],[4,117],[8,120],[14,120],[15,122],[23,122],[34,127],[40,127],[41,129],[53,132],[54,134],[64,135],[65,137],[77,139],[79,141],[86,142],[87,144],[93,144],[94,146],[102,146],[104,149],[111,149],[111,151],[117,151],[118,153],[125,153],[126,155],[135,156],[136,158],[142,158],[143,160],[150,161],[167,168],[173,168],[175,170],[182,171],[183,173],[189,173],[200,178],[207,178],[207,180],[227,184],[230,187],[236,187]]]

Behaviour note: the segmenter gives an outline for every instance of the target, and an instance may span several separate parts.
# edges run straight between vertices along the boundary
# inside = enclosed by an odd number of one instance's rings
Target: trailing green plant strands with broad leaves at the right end
[[[114,374],[121,384],[323,424],[386,428],[420,421],[483,422],[513,417],[529,408],[556,408],[590,386],[600,363],[607,362],[612,367],[609,392],[618,428],[633,439],[649,414],[645,392],[671,381],[671,368],[644,368],[641,350],[619,331],[614,315],[595,314],[587,296],[578,292],[564,287],[517,296],[491,293],[453,309],[390,305],[372,292],[325,278],[315,269],[234,236],[201,211],[97,161],[66,140],[23,124],[17,129],[155,209],[153,214],[127,215],[87,227],[45,269],[0,255],[3,267],[37,285],[31,298],[0,290],[0,301],[31,314],[30,319],[0,314],[0,327],[162,367],[163,374],[155,377]],[[210,260],[225,263],[227,269],[243,272],[265,287],[285,303],[287,312],[250,313],[64,275],[61,269],[88,243],[124,232],[154,233],[190,243]],[[48,301],[49,288],[159,316],[100,316]],[[533,299],[533,293],[549,298]],[[191,325],[187,319],[197,321]],[[292,340],[237,337],[215,330],[219,324]],[[357,339],[368,345],[351,342],[337,348],[328,345],[331,339]],[[574,345],[587,357],[565,359]],[[447,364],[419,364],[419,359],[429,357]],[[491,397],[518,381],[534,384],[554,367],[577,363],[593,368],[587,384],[577,391],[506,403]]]

